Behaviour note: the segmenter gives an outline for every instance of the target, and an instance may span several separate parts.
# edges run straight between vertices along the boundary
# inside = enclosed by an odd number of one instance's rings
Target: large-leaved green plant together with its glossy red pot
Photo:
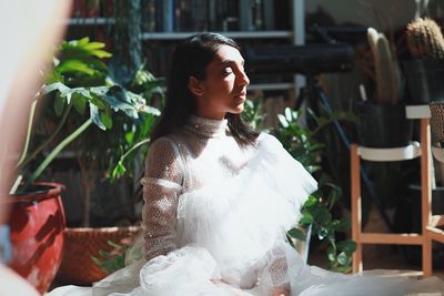
[[[37,181],[57,155],[87,130],[110,130],[114,113],[134,120],[143,113],[159,113],[142,96],[102,75],[107,67],[101,59],[110,57],[103,47],[88,38],[60,45],[60,54],[53,67],[44,71],[46,84],[31,105],[26,144],[17,164],[20,174],[11,196],[2,201],[13,204],[9,221],[13,254],[9,264],[41,293],[49,287],[60,265],[64,210],[60,201],[63,186]],[[38,104],[42,104],[39,110],[42,115],[48,110],[56,111],[57,125],[48,137],[39,137],[34,129]],[[84,120],[69,134],[60,133],[69,116],[82,115]],[[43,211],[44,204],[51,211]]]

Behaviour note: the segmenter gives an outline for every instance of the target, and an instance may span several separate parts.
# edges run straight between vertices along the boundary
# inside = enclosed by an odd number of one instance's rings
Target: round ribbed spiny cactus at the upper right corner
[[[434,20],[415,19],[407,25],[406,38],[412,58],[444,59],[444,38]]]

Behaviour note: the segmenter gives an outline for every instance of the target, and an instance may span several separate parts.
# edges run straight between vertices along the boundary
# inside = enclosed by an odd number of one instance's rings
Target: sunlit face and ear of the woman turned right
[[[221,45],[214,60],[206,67],[204,80],[190,80],[190,90],[198,101],[196,115],[223,119],[226,113],[239,114],[246,100],[250,80],[244,71],[244,60],[235,48]]]

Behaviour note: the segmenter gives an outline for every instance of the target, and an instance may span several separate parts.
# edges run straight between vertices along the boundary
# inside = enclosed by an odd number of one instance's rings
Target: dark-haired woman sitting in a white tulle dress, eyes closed
[[[231,39],[202,33],[176,48],[142,178],[144,258],[94,295],[403,295],[405,280],[306,266],[285,242],[316,182],[243,124],[249,83]],[[91,288],[51,293],[73,294]]]

